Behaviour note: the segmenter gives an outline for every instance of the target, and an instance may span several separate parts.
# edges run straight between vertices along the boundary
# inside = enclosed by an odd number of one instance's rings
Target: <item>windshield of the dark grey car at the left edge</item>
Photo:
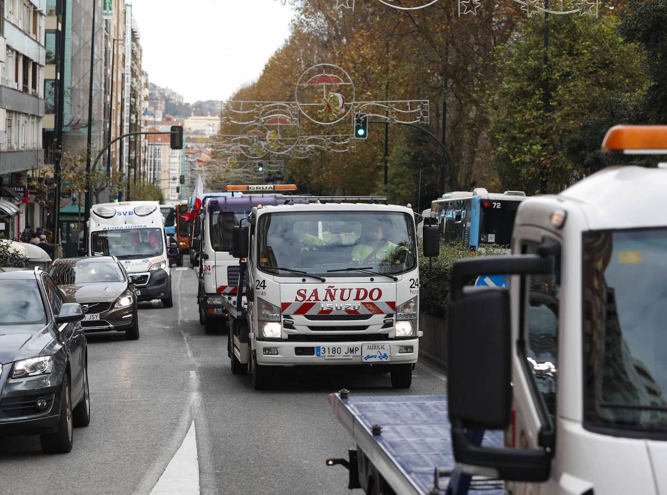
[[[3,280],[0,325],[46,323],[44,303],[35,280]],[[3,333],[0,330],[0,333]]]

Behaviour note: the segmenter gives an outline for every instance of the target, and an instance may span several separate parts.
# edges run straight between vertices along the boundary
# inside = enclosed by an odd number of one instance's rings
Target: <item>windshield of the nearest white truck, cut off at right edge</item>
[[[584,235],[584,404],[607,428],[667,430],[667,229]]]

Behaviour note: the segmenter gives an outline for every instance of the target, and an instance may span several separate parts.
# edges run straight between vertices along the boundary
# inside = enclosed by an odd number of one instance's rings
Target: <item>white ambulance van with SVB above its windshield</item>
[[[100,203],[91,208],[88,255],[116,256],[135,284],[139,301],[159,299],[165,308],[173,306],[168,246],[157,201]]]

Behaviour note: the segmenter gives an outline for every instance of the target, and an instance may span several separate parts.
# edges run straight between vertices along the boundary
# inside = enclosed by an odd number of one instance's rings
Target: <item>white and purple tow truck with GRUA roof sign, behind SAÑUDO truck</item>
[[[237,292],[239,263],[231,256],[233,226],[253,206],[285,201],[282,193],[295,191],[296,185],[228,185],[225,189],[225,194],[204,198],[197,215],[200,233],[193,239],[193,251],[199,252],[199,323],[207,334],[224,328],[227,322],[220,296]]]

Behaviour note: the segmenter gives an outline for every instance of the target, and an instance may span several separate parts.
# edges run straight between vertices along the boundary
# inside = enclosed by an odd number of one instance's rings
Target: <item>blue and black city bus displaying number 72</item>
[[[453,191],[431,203],[440,234],[447,242],[461,242],[471,251],[483,245],[510,245],[514,217],[524,191],[490,193],[484,187],[474,191]]]

